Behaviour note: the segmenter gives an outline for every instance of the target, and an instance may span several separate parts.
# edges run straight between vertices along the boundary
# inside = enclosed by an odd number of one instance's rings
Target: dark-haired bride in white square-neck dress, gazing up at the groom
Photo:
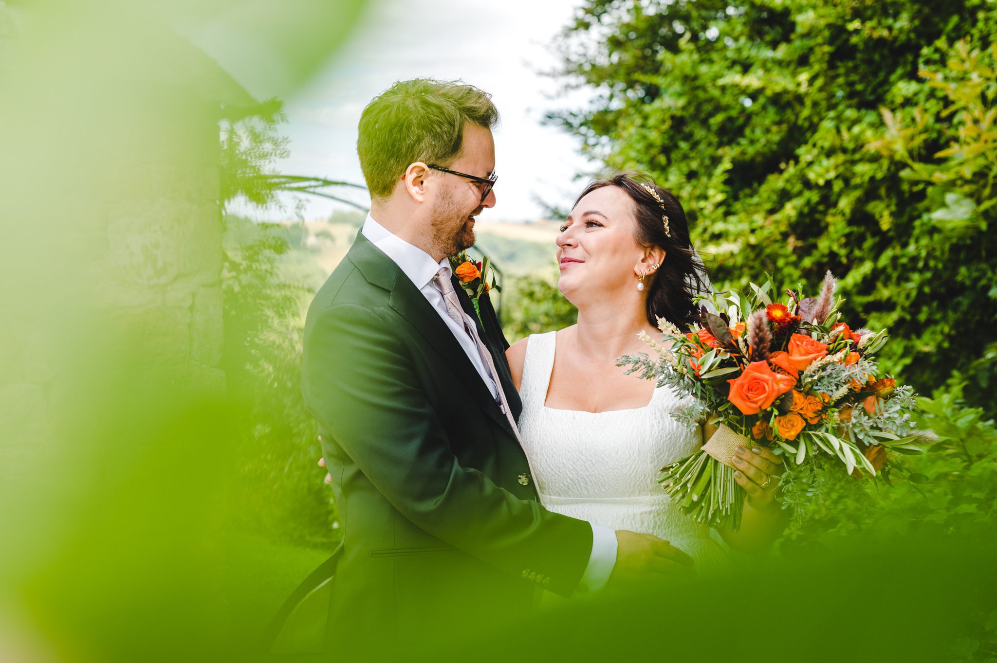
[[[522,400],[518,425],[540,502],[549,511],[615,531],[651,534],[696,561],[722,568],[726,552],[670,503],[658,470],[696,451],[711,426],[680,424],[684,401],[667,386],[625,375],[617,357],[649,347],[659,317],[697,320],[693,296],[707,287],[678,200],[654,181],[617,173],[590,184],[557,240],[558,289],[578,309],[576,325],[532,334],[506,351]],[[747,492],[739,532],[720,530],[739,551],[768,547],[785,526],[775,501],[781,459],[739,448],[735,479]],[[620,536],[619,534],[617,536]]]

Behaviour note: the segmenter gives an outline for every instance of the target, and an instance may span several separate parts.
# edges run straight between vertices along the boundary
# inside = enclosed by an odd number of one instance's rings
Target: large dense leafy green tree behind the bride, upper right
[[[982,0],[589,0],[560,47],[597,97],[551,118],[674,191],[720,287],[831,269],[885,366],[993,414],[995,30]]]

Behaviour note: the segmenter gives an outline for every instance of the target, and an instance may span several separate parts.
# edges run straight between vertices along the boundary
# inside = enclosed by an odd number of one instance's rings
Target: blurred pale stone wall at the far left
[[[20,52],[31,24],[20,11],[0,1],[0,76],[38,62]],[[214,74],[191,50],[169,35],[149,62],[123,65],[121,52],[143,57],[134,43],[68,44],[45,86],[34,75],[0,81],[5,102],[24,102],[0,111],[0,124],[23,128],[4,136],[0,163],[0,181],[19,189],[0,190],[0,478],[17,474],[36,442],[73,434],[66,413],[99,399],[102,370],[121,368],[95,356],[127,357],[132,375],[149,376],[136,389],[166,379],[174,391],[223,395],[223,100],[204,95]],[[42,44],[34,55],[50,52]]]

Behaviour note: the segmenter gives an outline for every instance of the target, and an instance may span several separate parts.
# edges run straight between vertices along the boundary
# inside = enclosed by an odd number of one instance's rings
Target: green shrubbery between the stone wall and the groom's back
[[[332,493],[315,466],[315,423],[301,396],[301,310],[308,291],[283,281],[287,228],[226,218],[224,370],[246,416],[237,431],[237,513],[274,541],[335,539]]]

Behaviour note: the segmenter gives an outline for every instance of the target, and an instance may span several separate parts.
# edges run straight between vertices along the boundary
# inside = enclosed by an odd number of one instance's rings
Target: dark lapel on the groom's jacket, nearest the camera
[[[444,357],[447,365],[457,374],[455,388],[469,391],[489,416],[515,437],[508,420],[492,397],[488,385],[454,337],[454,333],[398,265],[362,233],[357,235],[350,249],[349,259],[369,283],[391,292],[389,306],[409,321],[440,356]]]

